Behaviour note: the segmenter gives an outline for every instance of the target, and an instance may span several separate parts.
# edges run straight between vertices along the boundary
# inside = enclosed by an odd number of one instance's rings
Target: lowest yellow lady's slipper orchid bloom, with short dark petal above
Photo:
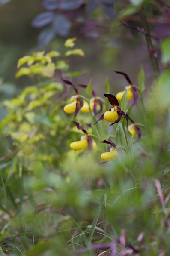
[[[112,161],[112,160],[116,159],[116,157],[118,156],[118,152],[116,150],[116,145],[113,142],[108,141],[108,140],[104,140],[104,141],[101,141],[101,142],[110,144],[112,146],[110,148],[110,151],[104,152],[104,153],[101,154],[101,158],[104,161],[102,163],[106,163],[108,161]]]

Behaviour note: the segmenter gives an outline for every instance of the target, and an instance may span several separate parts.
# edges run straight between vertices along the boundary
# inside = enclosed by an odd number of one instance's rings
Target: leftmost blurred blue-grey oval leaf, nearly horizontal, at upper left
[[[31,25],[35,28],[42,28],[51,23],[54,17],[55,14],[53,12],[42,12],[33,19]]]

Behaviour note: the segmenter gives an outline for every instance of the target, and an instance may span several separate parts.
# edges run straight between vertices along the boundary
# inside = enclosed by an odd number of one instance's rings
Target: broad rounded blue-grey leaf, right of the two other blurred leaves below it
[[[61,37],[66,37],[70,31],[70,22],[64,15],[58,15],[53,22],[54,31]]]

